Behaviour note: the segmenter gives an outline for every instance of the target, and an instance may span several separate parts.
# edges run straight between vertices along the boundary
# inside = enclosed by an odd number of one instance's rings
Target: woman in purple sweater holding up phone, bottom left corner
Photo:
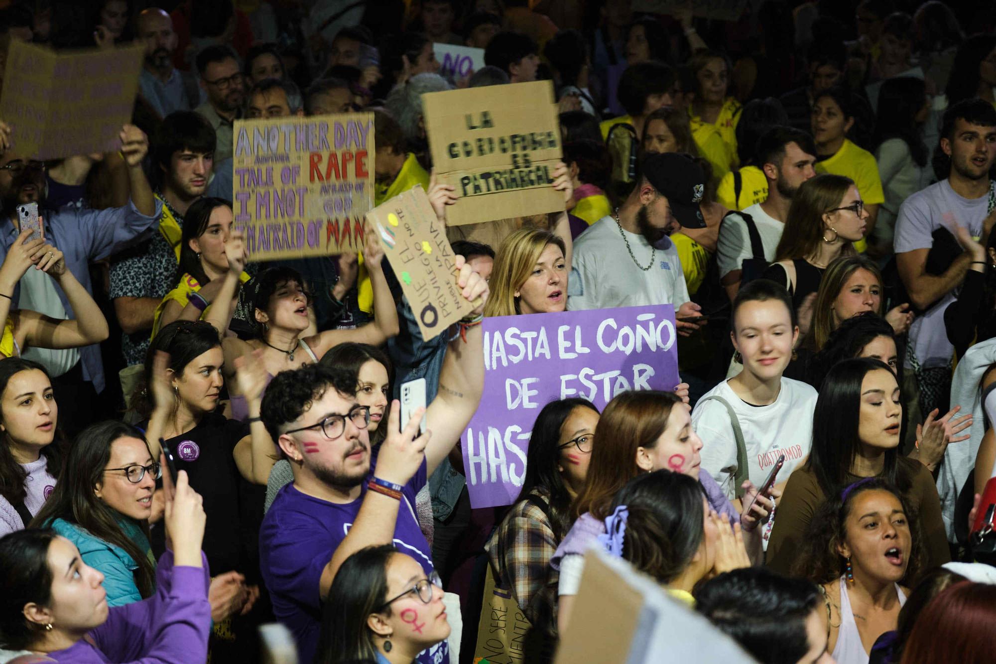
[[[211,630],[209,572],[200,550],[201,497],[180,473],[168,485],[169,546],[155,594],[109,607],[104,574],[51,528],[0,538],[0,641],[8,650],[56,662],[203,662]]]

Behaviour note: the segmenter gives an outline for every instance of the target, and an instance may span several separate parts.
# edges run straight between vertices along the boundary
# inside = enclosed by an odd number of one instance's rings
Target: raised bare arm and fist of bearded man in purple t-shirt
[[[484,334],[479,323],[488,297],[488,284],[464,262],[463,256],[456,256],[456,267],[462,296],[470,301],[480,297],[481,305],[469,316],[471,326],[461,326],[465,334],[457,334],[450,341],[439,372],[439,392],[426,409],[426,427],[432,432],[432,441],[425,448],[430,476],[460,440],[484,391]]]

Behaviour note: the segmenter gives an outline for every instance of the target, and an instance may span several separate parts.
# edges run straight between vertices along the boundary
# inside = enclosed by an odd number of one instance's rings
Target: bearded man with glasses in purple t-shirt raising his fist
[[[470,301],[487,298],[487,285],[460,261],[458,285]],[[260,416],[294,482],[277,494],[260,527],[260,569],[274,614],[294,633],[302,662],[314,659],[322,604],[340,565],[367,546],[393,543],[435,571],[415,515],[415,495],[460,439],[484,388],[483,335],[477,311],[463,334],[452,330],[439,374],[438,396],[411,414],[403,430],[399,406],[390,406],[387,435],[371,449],[370,412],[356,399],[357,374],[325,364],[277,374],[263,396]],[[444,333],[446,334],[446,333]],[[466,342],[463,341],[463,336]],[[418,435],[425,414],[428,430]],[[417,658],[446,662],[440,643]]]

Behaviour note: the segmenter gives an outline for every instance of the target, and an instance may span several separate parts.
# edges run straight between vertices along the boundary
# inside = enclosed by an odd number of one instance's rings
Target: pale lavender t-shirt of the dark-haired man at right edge
[[[964,198],[955,193],[947,179],[942,179],[903,201],[895,219],[892,246],[895,253],[928,249],[933,246],[935,230],[953,230],[955,224],[966,226],[972,237],[978,237],[988,213],[988,195]],[[924,368],[946,367],[951,362],[954,346],[947,340],[944,329],[944,309],[953,301],[954,292],[951,291],[917,316],[909,327],[913,353]],[[905,366],[912,366],[908,357]]]

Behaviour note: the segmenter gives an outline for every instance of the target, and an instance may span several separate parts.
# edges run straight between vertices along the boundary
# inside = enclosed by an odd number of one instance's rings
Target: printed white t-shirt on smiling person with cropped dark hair
[[[768,479],[779,455],[785,466],[776,482],[784,482],[813,447],[813,409],[817,392],[812,386],[782,378],[775,403],[751,406],[723,381],[699,399],[691,414],[695,433],[702,439],[702,470],[709,473],[726,497],[736,497],[737,441],[726,407],[706,397],[721,397],[737,414],[747,448],[748,480],[760,487]]]

